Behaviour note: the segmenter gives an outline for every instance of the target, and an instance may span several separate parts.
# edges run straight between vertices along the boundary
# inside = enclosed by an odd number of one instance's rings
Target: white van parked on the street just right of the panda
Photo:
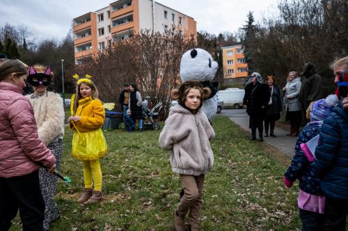
[[[225,108],[239,109],[243,106],[245,91],[239,88],[228,88],[217,92],[218,99],[223,101]]]

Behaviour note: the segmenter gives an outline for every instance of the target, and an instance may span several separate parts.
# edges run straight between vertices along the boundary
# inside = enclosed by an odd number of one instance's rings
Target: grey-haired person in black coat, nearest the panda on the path
[[[269,87],[263,83],[263,79],[258,72],[251,74],[250,83],[245,87],[243,99],[244,108],[249,115],[249,128],[251,128],[251,138],[256,139],[256,128],[259,132],[259,141],[263,142],[263,121],[265,109],[269,103]]]

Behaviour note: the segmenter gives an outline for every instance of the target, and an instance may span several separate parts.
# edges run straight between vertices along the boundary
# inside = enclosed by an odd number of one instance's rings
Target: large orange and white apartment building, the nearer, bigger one
[[[196,21],[154,0],[119,0],[73,19],[75,62],[92,57],[112,39],[124,40],[150,29],[196,35]]]

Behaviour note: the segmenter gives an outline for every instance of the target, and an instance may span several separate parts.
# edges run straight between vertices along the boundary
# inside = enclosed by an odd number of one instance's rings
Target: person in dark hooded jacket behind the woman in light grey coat
[[[306,63],[300,75],[303,76],[300,89],[302,121],[307,123],[306,110],[310,103],[322,99],[323,81],[312,62]]]

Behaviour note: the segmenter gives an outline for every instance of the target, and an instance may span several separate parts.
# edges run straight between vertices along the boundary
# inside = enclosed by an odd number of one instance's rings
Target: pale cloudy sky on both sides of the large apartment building
[[[37,39],[61,40],[72,19],[95,12],[116,0],[0,0],[0,26],[26,26]],[[143,1],[143,0],[141,0]],[[249,11],[255,21],[276,11],[277,0],[156,0],[197,22],[197,31],[218,35],[235,33],[246,22]]]

